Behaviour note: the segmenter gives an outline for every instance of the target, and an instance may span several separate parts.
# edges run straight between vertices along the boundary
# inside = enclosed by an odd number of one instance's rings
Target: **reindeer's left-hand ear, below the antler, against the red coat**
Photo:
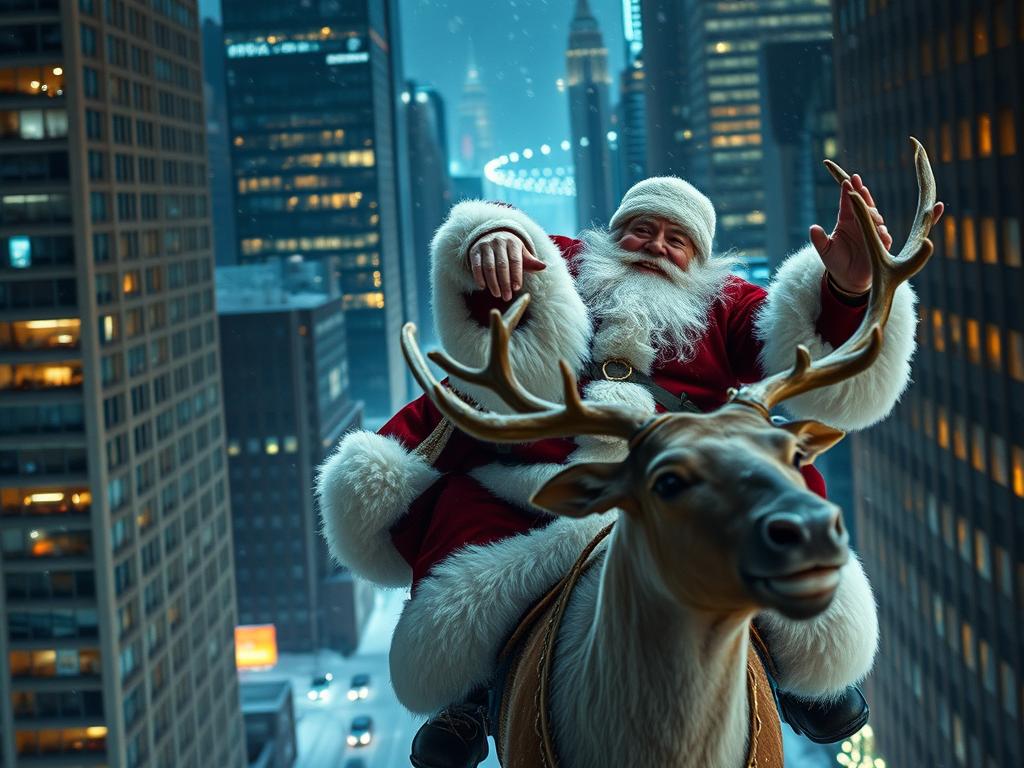
[[[612,507],[633,511],[626,493],[626,467],[620,462],[573,464],[548,480],[531,502],[565,517],[587,517]]]

